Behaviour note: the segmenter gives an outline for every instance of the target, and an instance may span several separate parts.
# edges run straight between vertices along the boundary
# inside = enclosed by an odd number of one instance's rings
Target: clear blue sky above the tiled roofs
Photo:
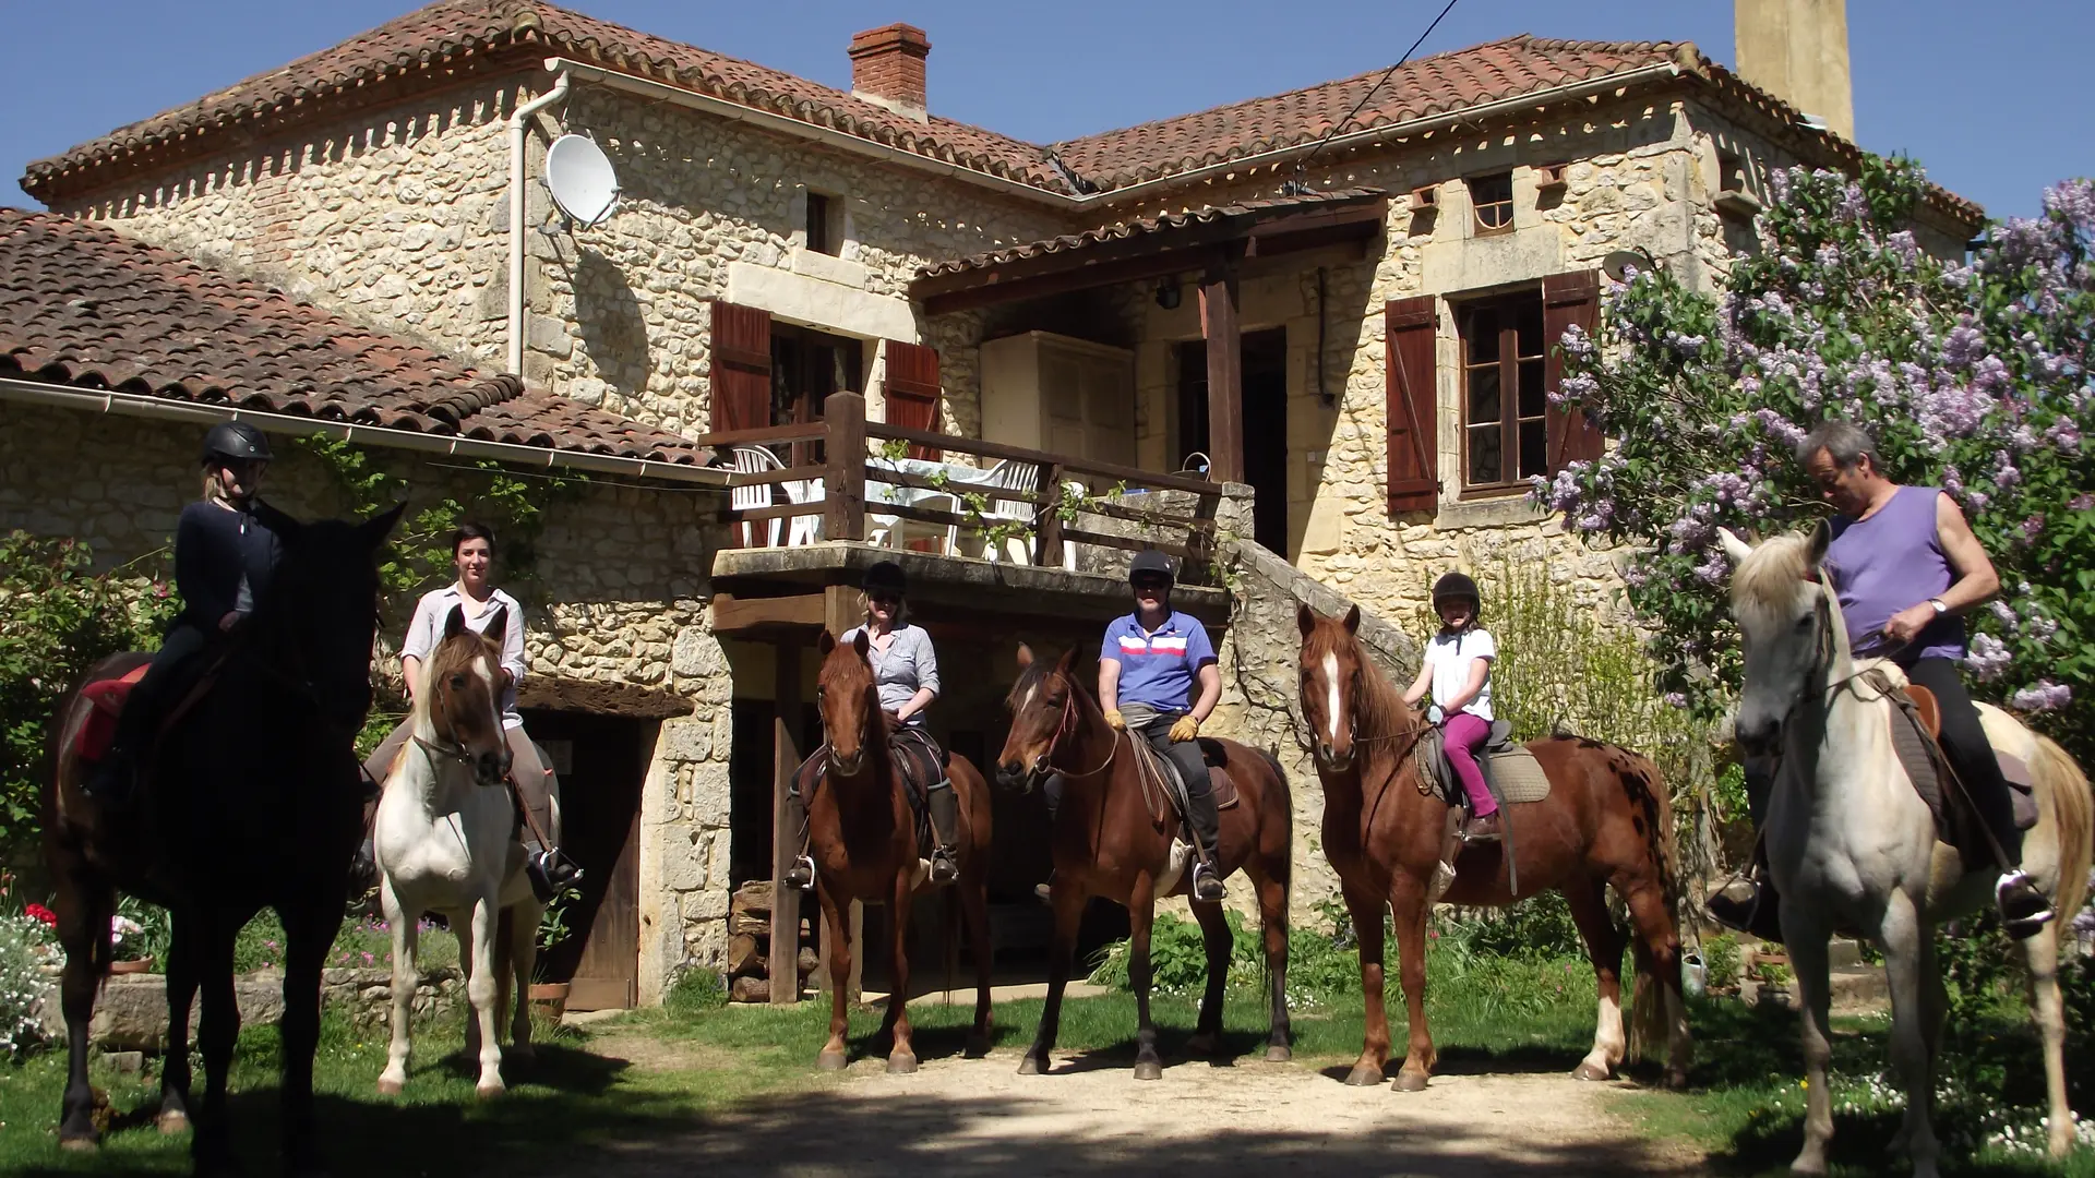
[[[930,34],[930,107],[1035,143],[1391,65],[1441,0],[568,0],[593,17],[848,88],[853,31]],[[406,13],[413,0],[0,0],[0,203],[23,166]],[[1460,0],[1420,54],[1531,31],[1693,40],[1730,61],[1728,0]],[[1856,134],[1994,216],[2095,172],[2085,0],[1854,0]]]

